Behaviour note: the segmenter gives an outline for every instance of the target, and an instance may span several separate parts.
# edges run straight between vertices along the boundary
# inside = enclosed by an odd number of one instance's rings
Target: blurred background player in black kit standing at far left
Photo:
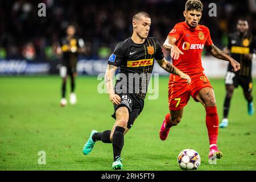
[[[67,77],[71,78],[71,93],[69,95],[69,102],[71,105],[77,103],[77,98],[75,94],[75,78],[77,76],[76,64],[77,56],[79,53],[86,53],[86,48],[84,45],[84,40],[77,38],[76,35],[77,28],[75,24],[69,24],[66,29],[66,34],[60,41],[60,48],[58,48],[58,53],[62,52],[62,65],[60,67],[60,76],[62,78],[61,85],[61,100],[60,105],[67,105],[66,96],[66,83]]]

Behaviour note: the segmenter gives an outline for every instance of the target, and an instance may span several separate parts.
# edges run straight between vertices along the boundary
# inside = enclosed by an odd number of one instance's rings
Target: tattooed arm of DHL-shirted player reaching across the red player
[[[191,83],[191,78],[187,74],[181,72],[174,65],[168,62],[165,58],[163,58],[162,60],[156,60],[156,61],[158,61],[158,64],[160,65],[160,67],[162,67],[165,71],[172,73],[174,75],[180,76],[182,79],[187,80],[187,84]]]

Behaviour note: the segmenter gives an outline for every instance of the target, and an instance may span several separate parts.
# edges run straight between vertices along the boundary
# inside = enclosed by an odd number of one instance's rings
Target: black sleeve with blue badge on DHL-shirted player
[[[109,56],[108,64],[119,67],[125,57],[125,49],[121,43],[117,44],[112,55]]]

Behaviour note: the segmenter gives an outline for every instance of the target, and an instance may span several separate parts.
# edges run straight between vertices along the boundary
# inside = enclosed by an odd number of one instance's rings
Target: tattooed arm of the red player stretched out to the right
[[[233,67],[234,72],[240,70],[240,64],[236,60],[234,60],[232,57],[226,55],[226,53],[221,51],[221,49],[214,46],[214,44],[210,46],[205,46],[205,49],[207,49],[207,51],[214,57],[225,60],[225,61],[229,61]]]

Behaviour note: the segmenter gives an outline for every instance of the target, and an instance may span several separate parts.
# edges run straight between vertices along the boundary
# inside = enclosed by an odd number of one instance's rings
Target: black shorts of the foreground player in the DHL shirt
[[[119,107],[127,107],[129,110],[129,121],[127,123],[127,128],[130,129],[133,126],[135,119],[141,114],[144,107],[144,100],[136,96],[136,94],[121,93],[118,94],[121,97],[121,104],[114,105],[114,114],[112,117],[116,119],[115,112]]]

